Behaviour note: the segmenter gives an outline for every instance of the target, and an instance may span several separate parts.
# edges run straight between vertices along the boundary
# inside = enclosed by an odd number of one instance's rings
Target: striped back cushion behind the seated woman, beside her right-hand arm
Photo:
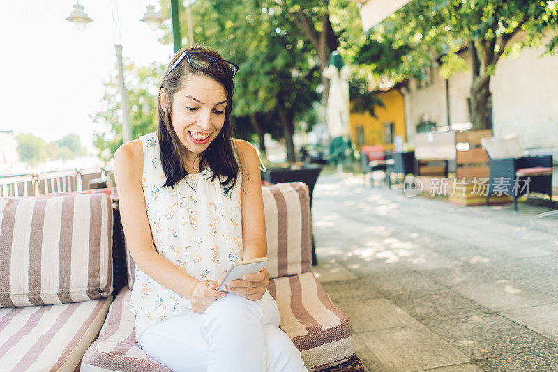
[[[310,268],[310,197],[302,182],[262,186],[266,219],[269,278],[296,275]],[[132,289],[135,263],[126,249],[128,286]]]

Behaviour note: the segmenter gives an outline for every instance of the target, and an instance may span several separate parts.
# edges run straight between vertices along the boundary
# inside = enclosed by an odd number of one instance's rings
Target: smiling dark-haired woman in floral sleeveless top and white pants
[[[259,158],[232,139],[237,70],[203,47],[176,52],[159,87],[158,131],[114,155],[137,265],[135,339],[173,371],[306,371],[278,328],[265,269],[216,291],[231,261],[267,251]]]

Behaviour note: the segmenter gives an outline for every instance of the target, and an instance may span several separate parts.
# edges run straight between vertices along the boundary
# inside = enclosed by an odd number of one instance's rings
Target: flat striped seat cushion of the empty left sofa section
[[[0,370],[74,371],[111,301],[0,309]]]

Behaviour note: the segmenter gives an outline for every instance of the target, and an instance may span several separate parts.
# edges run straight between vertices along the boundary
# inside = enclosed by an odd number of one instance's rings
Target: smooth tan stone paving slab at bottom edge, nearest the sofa
[[[422,371],[469,362],[469,358],[423,325],[359,334],[378,371]],[[376,370],[375,370],[376,371]]]

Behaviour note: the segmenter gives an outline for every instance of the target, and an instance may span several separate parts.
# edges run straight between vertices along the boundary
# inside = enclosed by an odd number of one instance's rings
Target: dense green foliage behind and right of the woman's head
[[[161,8],[168,11],[166,0]],[[285,137],[285,125],[291,134],[294,127],[311,130],[318,121],[314,103],[323,102],[324,84],[329,84],[322,77],[329,52],[337,48],[352,63],[359,54],[355,40],[365,39],[358,9],[347,0],[199,0],[192,16],[195,42],[240,66],[233,115],[236,133],[245,139],[254,136],[250,115],[257,115],[262,130],[276,139]],[[181,11],[181,32],[187,35],[186,11]],[[162,41],[172,42],[169,25]],[[367,109],[377,103],[368,98],[371,93],[359,97]],[[296,125],[299,121],[305,125]]]

